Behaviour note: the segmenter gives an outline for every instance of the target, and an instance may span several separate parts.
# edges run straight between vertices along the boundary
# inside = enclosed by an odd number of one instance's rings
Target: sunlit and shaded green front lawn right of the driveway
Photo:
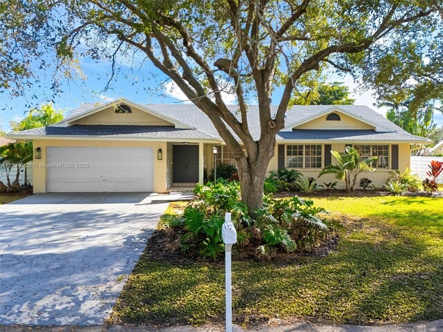
[[[314,198],[345,225],[336,251],[293,264],[233,262],[237,323],[273,317],[388,324],[443,317],[443,199]],[[168,214],[183,205],[174,203]],[[233,252],[235,257],[235,252]],[[224,266],[143,254],[111,315],[126,324],[205,324],[224,317]]]

